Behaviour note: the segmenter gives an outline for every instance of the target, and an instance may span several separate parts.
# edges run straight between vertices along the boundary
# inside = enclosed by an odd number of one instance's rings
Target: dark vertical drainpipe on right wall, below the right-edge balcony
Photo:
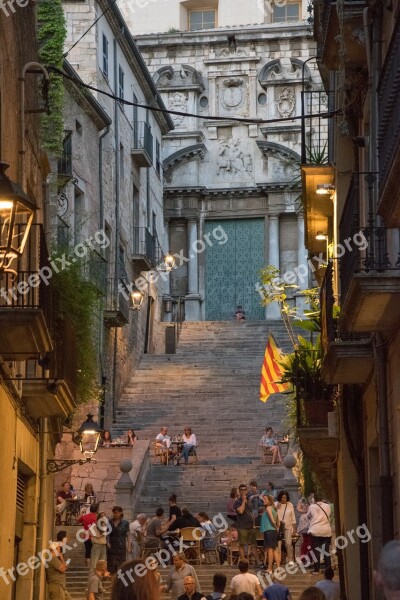
[[[387,352],[381,333],[374,340],[376,395],[379,432],[379,481],[382,508],[382,544],[394,538],[393,481],[390,470],[389,410],[387,397]]]

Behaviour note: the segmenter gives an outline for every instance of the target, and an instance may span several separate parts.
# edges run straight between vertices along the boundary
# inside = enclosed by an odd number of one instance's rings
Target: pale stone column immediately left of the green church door
[[[204,243],[204,242],[203,242]],[[200,321],[199,261],[198,252],[201,242],[198,240],[197,220],[188,220],[188,293],[185,297],[185,321]]]

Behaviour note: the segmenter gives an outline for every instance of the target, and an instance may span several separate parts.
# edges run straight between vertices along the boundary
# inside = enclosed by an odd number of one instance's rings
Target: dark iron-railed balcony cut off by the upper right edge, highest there
[[[393,30],[378,87],[378,212],[389,227],[400,227],[400,17]]]

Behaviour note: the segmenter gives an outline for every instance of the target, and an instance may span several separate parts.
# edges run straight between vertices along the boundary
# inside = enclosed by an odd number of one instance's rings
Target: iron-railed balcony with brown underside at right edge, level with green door
[[[372,183],[369,183],[371,186]],[[395,230],[375,224],[360,227],[360,185],[352,179],[339,225],[339,241],[365,240],[352,244],[340,259],[341,331],[382,333],[393,330],[400,318],[400,258],[390,250]]]

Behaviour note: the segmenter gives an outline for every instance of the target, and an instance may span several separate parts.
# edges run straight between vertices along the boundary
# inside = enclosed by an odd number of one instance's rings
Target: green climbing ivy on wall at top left
[[[39,0],[37,7],[39,60],[59,69],[63,66],[66,26],[61,0]],[[64,83],[62,77],[50,73],[49,114],[42,115],[42,143],[54,158],[62,154],[64,137]]]

